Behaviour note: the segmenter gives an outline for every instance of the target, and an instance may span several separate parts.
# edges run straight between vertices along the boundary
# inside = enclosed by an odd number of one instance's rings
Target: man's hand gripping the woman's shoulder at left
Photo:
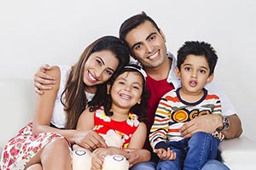
[[[49,65],[42,65],[34,75],[35,92],[37,94],[44,94],[42,90],[49,90],[52,87],[47,86],[55,84],[55,77],[47,75],[45,72],[51,70]]]

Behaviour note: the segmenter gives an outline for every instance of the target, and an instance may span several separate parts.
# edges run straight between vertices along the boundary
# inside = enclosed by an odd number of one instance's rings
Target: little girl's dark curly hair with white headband
[[[139,72],[143,79],[143,93],[141,96],[141,103],[133,105],[131,107],[131,112],[138,116],[138,120],[140,122],[148,121],[147,112],[148,112],[148,99],[149,93],[148,88],[146,86],[146,78],[143,76],[142,72],[140,71],[141,67],[139,65],[127,65],[125,68],[119,73],[119,75],[125,72]],[[119,76],[118,75],[118,76]],[[113,82],[108,82],[111,85],[110,89],[113,86]],[[89,102],[90,111],[96,111],[99,107],[103,106],[104,111],[107,116],[113,116],[113,112],[111,110],[112,99],[111,95],[107,93],[107,85],[102,87],[101,89],[96,91],[95,97]]]

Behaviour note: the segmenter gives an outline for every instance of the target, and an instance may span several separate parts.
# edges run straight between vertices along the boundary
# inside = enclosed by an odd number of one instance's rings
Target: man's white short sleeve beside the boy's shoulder
[[[221,106],[222,106],[222,114],[224,116],[230,116],[230,115],[236,114],[236,110],[232,105],[229,97],[226,94],[224,94],[224,92],[221,91],[214,82],[208,83],[205,86],[205,88],[207,88],[210,94],[218,95],[221,102]]]

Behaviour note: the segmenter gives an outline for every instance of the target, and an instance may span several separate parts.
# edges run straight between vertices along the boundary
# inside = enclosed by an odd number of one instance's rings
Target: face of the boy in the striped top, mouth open
[[[205,84],[212,82],[213,74],[209,76],[210,67],[205,56],[189,54],[181,65],[176,68],[176,76],[181,79],[183,89],[197,93]]]

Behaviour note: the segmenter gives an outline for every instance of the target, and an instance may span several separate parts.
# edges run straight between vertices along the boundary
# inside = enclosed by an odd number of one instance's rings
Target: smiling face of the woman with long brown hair
[[[90,54],[84,64],[84,83],[90,87],[107,82],[118,65],[119,60],[110,50]]]

